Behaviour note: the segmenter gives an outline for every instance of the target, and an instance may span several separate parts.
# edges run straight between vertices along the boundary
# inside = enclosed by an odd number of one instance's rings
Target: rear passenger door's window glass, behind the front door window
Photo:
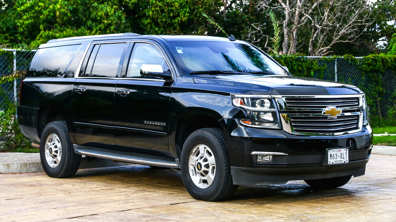
[[[91,77],[116,77],[125,45],[125,43],[101,45],[93,62]]]

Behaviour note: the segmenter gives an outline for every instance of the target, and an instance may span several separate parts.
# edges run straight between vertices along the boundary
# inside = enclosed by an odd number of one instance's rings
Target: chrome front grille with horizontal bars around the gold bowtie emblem
[[[341,135],[361,129],[363,95],[285,96],[278,98],[283,130],[303,135]],[[329,108],[337,116],[324,115]]]

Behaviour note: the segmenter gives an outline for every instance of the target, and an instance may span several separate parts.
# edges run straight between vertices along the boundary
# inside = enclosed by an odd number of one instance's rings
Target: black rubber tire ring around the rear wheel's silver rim
[[[45,145],[47,142],[47,138],[52,133],[58,136],[62,146],[62,156],[60,159],[60,163],[55,168],[52,168],[48,165],[45,157]],[[40,159],[44,171],[50,177],[63,177],[66,159],[68,158],[68,156],[71,155],[71,141],[69,134],[66,133],[67,128],[61,122],[51,122],[43,130],[40,141]]]

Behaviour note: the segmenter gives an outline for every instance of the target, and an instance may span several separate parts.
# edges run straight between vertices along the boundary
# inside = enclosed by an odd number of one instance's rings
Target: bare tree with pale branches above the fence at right
[[[283,54],[295,54],[307,44],[304,51],[310,55],[326,55],[336,43],[354,42],[373,22],[366,0],[264,0],[257,4],[261,13],[271,9],[283,17]],[[299,37],[301,33],[305,39]]]

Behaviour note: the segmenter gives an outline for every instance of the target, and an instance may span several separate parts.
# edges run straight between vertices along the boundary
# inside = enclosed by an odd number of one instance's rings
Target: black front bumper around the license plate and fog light
[[[227,145],[234,184],[280,184],[288,180],[332,178],[365,174],[373,146],[370,126],[338,136],[291,135],[238,125]],[[349,163],[326,164],[326,149],[349,147]],[[258,163],[254,153],[275,153],[270,163]],[[287,155],[276,155],[287,154]]]

